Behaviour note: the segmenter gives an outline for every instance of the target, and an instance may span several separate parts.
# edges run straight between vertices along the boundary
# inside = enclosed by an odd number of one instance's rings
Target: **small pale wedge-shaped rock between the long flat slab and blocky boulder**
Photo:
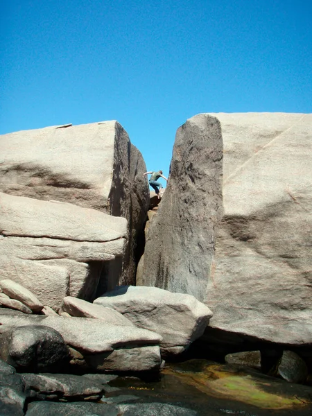
[[[71,316],[80,316],[80,318],[96,318],[104,320],[114,325],[130,325],[132,322],[125,318],[121,313],[112,308],[106,308],[98,304],[92,304],[76,297],[64,297],[61,310],[69,313]]]

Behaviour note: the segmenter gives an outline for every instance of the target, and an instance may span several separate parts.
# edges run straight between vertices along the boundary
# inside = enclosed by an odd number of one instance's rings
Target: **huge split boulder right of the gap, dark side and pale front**
[[[188,120],[148,231],[144,284],[205,299],[212,329],[311,343],[311,144],[312,114]]]

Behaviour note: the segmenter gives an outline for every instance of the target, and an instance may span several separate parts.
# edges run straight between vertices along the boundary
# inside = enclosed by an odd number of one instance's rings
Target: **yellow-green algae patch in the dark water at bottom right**
[[[191,370],[195,369],[189,364],[187,371],[167,367],[164,372],[193,385],[206,395],[240,401],[262,409],[295,410],[311,404],[309,399],[300,397],[292,391],[290,385],[282,381],[270,379],[262,374],[246,374],[234,366],[201,365],[195,371]]]

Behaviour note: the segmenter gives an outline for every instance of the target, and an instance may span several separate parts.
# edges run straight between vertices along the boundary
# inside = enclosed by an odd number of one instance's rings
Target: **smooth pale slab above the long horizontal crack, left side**
[[[0,193],[1,234],[101,243],[126,236],[125,218],[58,201]],[[6,240],[6,239],[4,239]]]

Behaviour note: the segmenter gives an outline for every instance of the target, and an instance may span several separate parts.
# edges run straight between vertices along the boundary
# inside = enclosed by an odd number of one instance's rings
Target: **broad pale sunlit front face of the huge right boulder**
[[[214,114],[224,216],[207,302],[211,327],[312,342],[312,114]]]

